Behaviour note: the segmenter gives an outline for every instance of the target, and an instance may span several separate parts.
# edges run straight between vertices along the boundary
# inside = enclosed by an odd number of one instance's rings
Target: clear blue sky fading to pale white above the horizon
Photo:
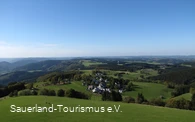
[[[0,57],[195,55],[195,0],[0,0]]]

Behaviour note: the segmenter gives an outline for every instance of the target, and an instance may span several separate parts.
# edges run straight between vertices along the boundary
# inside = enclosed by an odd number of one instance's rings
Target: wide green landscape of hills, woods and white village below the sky
[[[168,59],[167,59],[168,60]],[[1,109],[9,109],[11,101],[18,106],[90,105],[108,107],[120,105],[119,113],[4,113],[3,120],[44,121],[57,117],[58,121],[124,120],[132,122],[193,120],[194,65],[181,59],[153,58],[91,58],[45,60],[26,64],[0,76]],[[151,63],[152,62],[152,63]],[[178,63],[179,62],[179,63]],[[171,63],[171,64],[170,64]],[[190,64],[191,67],[186,66]],[[179,78],[178,78],[179,77]],[[81,100],[84,99],[84,100]],[[186,110],[179,110],[186,109]],[[24,117],[17,117],[17,115]],[[139,117],[142,116],[142,118]],[[178,116],[180,115],[180,116]],[[70,119],[74,116],[72,119]],[[91,117],[94,116],[94,117]],[[127,117],[128,116],[128,117]],[[177,116],[177,117],[176,117]]]

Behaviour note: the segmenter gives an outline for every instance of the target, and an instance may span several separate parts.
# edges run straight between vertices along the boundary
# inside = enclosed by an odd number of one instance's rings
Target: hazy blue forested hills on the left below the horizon
[[[14,63],[0,62],[0,84],[15,81],[35,81],[50,71],[66,71],[83,68],[79,60],[22,60]]]

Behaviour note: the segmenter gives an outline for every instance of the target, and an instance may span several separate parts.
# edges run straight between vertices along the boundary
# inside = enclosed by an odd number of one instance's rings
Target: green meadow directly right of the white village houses
[[[163,84],[133,82],[136,85],[135,91],[124,92],[124,96],[131,96],[136,98],[138,93],[143,93],[148,100],[152,98],[159,98],[161,95],[167,99],[171,97],[172,89],[167,88]]]

